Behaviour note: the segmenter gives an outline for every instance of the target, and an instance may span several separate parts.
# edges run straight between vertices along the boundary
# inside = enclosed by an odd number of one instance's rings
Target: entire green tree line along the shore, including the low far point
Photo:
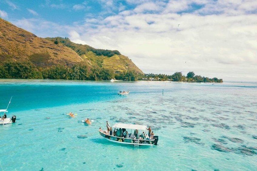
[[[89,68],[83,63],[65,66],[63,64],[52,65],[49,67],[36,67],[30,61],[8,61],[0,64],[0,78],[17,79],[63,79],[63,80],[124,80],[138,81],[154,78],[158,81],[188,81],[188,82],[218,82],[222,79],[202,77],[190,71],[187,76],[182,72],[167,74],[138,74],[135,71],[114,72],[103,67]]]

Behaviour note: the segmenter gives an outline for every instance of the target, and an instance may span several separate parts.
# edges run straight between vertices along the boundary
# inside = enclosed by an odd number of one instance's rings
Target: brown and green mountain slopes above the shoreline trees
[[[94,71],[100,74],[101,72],[143,74],[128,57],[117,50],[96,49],[89,45],[76,44],[68,38],[39,38],[2,18],[0,18],[0,28],[0,65],[8,62],[11,62],[11,65],[26,63],[35,67],[37,72],[46,68],[53,69],[59,65],[63,65],[65,67],[63,69],[68,72],[68,68],[78,65],[85,67],[88,74],[94,74],[92,73]],[[4,75],[6,74],[2,74],[2,77]]]

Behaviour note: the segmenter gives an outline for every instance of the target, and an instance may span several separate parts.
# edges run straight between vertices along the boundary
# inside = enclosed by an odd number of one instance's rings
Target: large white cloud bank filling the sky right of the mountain
[[[134,10],[105,18],[98,29],[81,32],[76,41],[119,50],[144,72],[194,71],[224,80],[252,75],[257,71],[257,17],[249,11],[256,10],[255,5],[205,2],[169,1],[158,6],[144,1]],[[145,13],[150,11],[157,13]],[[239,72],[241,78],[236,78],[239,74],[234,72]]]

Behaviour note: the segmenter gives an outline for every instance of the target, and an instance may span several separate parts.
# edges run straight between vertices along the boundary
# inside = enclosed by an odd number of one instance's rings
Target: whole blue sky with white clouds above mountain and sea
[[[251,0],[0,0],[0,17],[38,37],[118,50],[144,73],[257,81]]]

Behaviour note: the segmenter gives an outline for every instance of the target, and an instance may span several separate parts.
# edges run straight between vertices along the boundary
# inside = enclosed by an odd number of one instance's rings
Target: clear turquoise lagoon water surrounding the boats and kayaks
[[[257,170],[257,83],[0,80],[0,97],[18,118],[0,170]],[[109,142],[106,120],[151,126],[158,146]]]

